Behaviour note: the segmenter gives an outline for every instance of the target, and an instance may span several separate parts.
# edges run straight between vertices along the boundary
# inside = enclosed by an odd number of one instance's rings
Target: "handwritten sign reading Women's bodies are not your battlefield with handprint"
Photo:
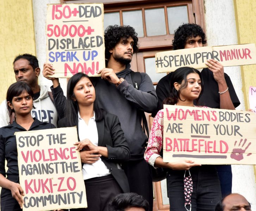
[[[252,112],[164,105],[163,161],[256,164]]]

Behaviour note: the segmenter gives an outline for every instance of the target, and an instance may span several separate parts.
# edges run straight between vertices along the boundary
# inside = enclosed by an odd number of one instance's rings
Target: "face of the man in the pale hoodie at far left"
[[[33,70],[27,59],[19,59],[14,62],[13,70],[15,73],[16,81],[24,81],[33,87],[37,84],[37,77],[39,76],[40,69]]]

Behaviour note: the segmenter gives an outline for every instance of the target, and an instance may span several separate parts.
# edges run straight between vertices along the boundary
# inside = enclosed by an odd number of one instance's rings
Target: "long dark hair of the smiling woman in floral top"
[[[201,97],[203,90],[204,90],[204,84],[203,84],[203,79],[201,76],[201,73],[194,69],[194,68],[189,68],[189,67],[183,67],[183,68],[178,68],[172,73],[171,76],[171,93],[170,96],[167,97],[164,101],[163,104],[168,104],[168,105],[174,105],[178,102],[178,100],[181,100],[180,98],[180,91],[182,89],[185,89],[188,85],[187,82],[187,75],[189,73],[198,73],[200,79],[201,79],[201,92],[198,98],[196,99],[196,103],[198,102],[199,98]],[[181,87],[178,90],[175,89],[174,83],[177,82],[178,84],[181,84]],[[182,101],[182,100],[181,100]]]

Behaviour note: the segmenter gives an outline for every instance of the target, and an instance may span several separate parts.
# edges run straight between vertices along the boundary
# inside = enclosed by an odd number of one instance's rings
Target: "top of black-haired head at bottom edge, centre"
[[[137,193],[120,193],[108,205],[108,211],[148,211],[149,203]]]

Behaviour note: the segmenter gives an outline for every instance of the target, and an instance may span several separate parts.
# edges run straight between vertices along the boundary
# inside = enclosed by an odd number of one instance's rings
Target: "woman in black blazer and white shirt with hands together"
[[[74,211],[107,211],[111,198],[129,192],[117,163],[129,160],[130,150],[118,117],[98,107],[94,85],[84,73],[69,79],[65,117],[58,122],[58,127],[73,126],[82,141],[75,143],[76,148],[85,149],[81,161],[88,205]]]

